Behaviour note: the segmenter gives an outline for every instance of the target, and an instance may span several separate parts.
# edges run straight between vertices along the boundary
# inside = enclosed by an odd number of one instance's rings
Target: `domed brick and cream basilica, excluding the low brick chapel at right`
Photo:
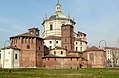
[[[42,38],[38,28],[30,28],[25,33],[10,37],[11,45],[4,47],[1,53],[4,56],[11,53],[15,58],[1,62],[3,67],[81,68],[83,66],[82,61],[87,61],[82,57],[83,51],[87,48],[86,34],[74,31],[76,22],[69,15],[63,14],[59,1],[55,9],[54,14],[43,19]],[[4,52],[5,49],[11,50],[6,50],[7,54]],[[3,60],[6,58],[8,57],[4,57]]]

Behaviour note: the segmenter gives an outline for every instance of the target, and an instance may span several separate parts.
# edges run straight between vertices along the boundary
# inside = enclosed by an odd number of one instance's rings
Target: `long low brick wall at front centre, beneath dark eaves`
[[[44,58],[46,68],[80,68],[80,58]]]

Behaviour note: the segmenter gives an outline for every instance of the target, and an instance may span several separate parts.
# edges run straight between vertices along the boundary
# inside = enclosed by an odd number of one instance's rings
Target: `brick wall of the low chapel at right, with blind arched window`
[[[102,68],[105,67],[105,52],[103,51],[89,51],[84,52],[83,57],[88,60],[89,67]]]

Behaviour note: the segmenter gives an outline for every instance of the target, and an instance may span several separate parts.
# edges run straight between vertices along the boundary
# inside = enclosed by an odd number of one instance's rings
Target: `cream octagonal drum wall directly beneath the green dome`
[[[74,24],[72,22],[69,22],[68,19],[65,20],[59,20],[59,19],[55,19],[55,20],[44,20],[43,21],[43,38],[46,38],[48,36],[59,36],[61,37],[61,26],[62,24],[70,24],[73,25]],[[53,26],[53,30],[50,30],[50,25],[52,24]]]

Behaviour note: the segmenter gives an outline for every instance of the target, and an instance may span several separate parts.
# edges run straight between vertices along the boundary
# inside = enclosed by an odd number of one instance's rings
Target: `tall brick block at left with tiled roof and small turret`
[[[20,67],[41,67],[42,56],[44,55],[43,39],[39,37],[37,28],[29,29],[23,36],[19,35],[10,38],[12,46],[20,49]]]

